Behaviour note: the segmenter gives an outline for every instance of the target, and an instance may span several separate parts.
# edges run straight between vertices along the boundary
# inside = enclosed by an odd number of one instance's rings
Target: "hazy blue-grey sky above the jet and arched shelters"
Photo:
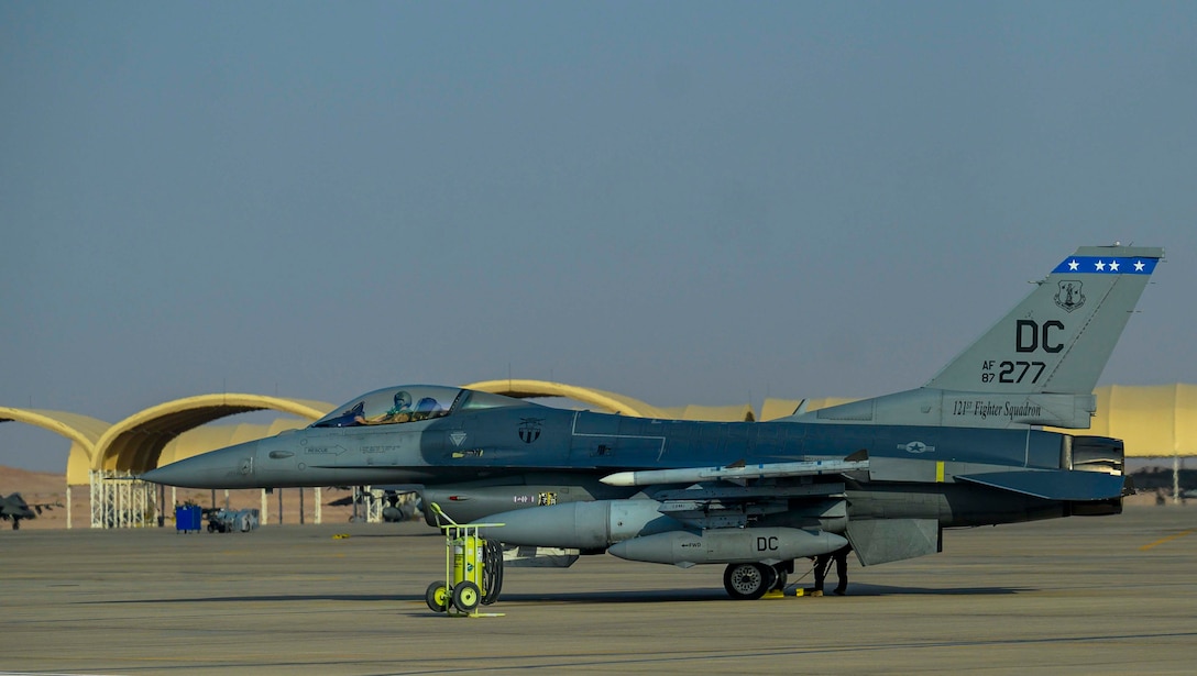
[[[0,4],[0,404],[920,385],[1077,245],[1197,382],[1197,4]],[[0,464],[68,443],[0,425]]]

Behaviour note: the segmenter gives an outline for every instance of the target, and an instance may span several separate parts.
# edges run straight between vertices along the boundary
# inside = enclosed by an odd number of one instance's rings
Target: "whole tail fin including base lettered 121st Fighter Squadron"
[[[926,385],[785,420],[1087,428],[1093,388],[1162,257],[1154,248],[1077,249]]]

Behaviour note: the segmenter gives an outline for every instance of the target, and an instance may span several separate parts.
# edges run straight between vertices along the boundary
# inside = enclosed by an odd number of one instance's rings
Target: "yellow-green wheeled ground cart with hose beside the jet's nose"
[[[430,584],[424,601],[437,613],[480,617],[478,607],[494,603],[503,591],[503,546],[482,538],[479,529],[503,524],[460,524],[436,503],[432,513],[445,534],[445,579]]]

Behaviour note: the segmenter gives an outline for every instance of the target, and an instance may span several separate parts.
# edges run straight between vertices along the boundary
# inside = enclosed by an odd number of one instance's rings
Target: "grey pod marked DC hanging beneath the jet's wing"
[[[709,529],[701,534],[673,530],[616,542],[608,553],[628,561],[674,564],[778,564],[830,554],[847,544],[825,530],[796,528]]]

